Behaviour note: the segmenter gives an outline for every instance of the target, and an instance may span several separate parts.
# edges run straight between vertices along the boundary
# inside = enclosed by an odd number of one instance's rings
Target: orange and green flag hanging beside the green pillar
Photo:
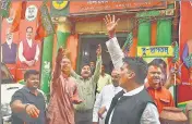
[[[45,3],[40,7],[37,16],[38,26],[35,39],[41,40],[44,37],[55,34],[55,27],[50,14],[48,12],[47,5]]]

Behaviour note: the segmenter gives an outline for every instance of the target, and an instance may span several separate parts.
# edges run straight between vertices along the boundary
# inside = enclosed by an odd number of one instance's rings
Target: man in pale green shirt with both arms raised
[[[101,47],[97,49],[97,62],[95,72],[92,75],[89,64],[82,67],[81,76],[71,71],[72,76],[76,79],[79,95],[83,100],[82,103],[75,106],[75,124],[92,124],[93,108],[95,102],[96,84],[99,79],[101,69]]]

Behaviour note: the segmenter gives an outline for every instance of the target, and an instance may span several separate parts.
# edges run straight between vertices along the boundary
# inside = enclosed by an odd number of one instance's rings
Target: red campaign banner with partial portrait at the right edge
[[[178,87],[178,102],[184,103],[192,100],[192,67],[189,66],[188,58],[192,53],[192,2],[180,2],[180,30],[179,30],[179,45],[180,58],[183,63],[181,67],[181,85]]]

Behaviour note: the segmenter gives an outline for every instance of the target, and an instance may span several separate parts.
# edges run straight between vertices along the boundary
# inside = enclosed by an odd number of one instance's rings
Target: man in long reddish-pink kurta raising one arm
[[[60,48],[52,74],[47,124],[75,124],[73,103],[82,102],[77,96],[75,79],[71,77],[71,61],[67,50]]]

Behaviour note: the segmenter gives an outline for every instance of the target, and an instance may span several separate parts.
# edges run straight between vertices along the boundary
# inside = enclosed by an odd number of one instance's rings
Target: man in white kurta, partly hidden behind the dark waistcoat
[[[94,124],[105,124],[105,117],[107,114],[106,104],[110,104],[115,95],[122,90],[122,88],[119,87],[119,72],[117,70],[111,72],[111,85],[106,85],[103,88],[95,101],[93,112]]]

